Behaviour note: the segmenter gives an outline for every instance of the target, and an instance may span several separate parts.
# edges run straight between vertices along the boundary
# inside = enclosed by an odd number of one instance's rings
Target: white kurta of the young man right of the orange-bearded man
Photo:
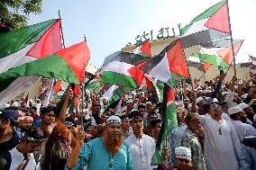
[[[124,140],[131,148],[134,170],[152,170],[151,158],[155,152],[155,141],[148,135],[142,135],[142,139],[136,139],[134,134]]]

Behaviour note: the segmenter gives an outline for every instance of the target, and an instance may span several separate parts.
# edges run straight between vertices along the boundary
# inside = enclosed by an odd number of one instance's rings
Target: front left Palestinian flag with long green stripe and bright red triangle
[[[84,41],[68,49],[61,49],[46,58],[14,67],[0,75],[0,82],[19,76],[43,76],[80,84],[83,82],[89,58],[87,42]]]

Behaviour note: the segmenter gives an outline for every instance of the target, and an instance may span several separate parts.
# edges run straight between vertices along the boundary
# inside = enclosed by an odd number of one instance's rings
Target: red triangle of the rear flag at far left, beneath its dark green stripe
[[[50,54],[62,49],[60,39],[60,20],[53,23],[50,28],[45,31],[32,49],[26,54],[32,58],[44,58]]]

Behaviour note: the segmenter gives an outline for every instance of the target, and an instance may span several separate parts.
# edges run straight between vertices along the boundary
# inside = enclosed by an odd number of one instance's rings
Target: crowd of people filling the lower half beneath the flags
[[[256,75],[225,75],[174,88],[178,126],[166,137],[163,160],[151,165],[163,107],[155,92],[132,90],[118,112],[91,94],[69,109],[12,101],[0,113],[0,170],[255,170]]]

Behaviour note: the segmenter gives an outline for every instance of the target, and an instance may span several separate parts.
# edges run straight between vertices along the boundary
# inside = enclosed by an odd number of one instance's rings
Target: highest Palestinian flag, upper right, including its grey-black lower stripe
[[[183,48],[229,37],[231,31],[227,8],[224,0],[200,13],[183,27],[180,31]]]

